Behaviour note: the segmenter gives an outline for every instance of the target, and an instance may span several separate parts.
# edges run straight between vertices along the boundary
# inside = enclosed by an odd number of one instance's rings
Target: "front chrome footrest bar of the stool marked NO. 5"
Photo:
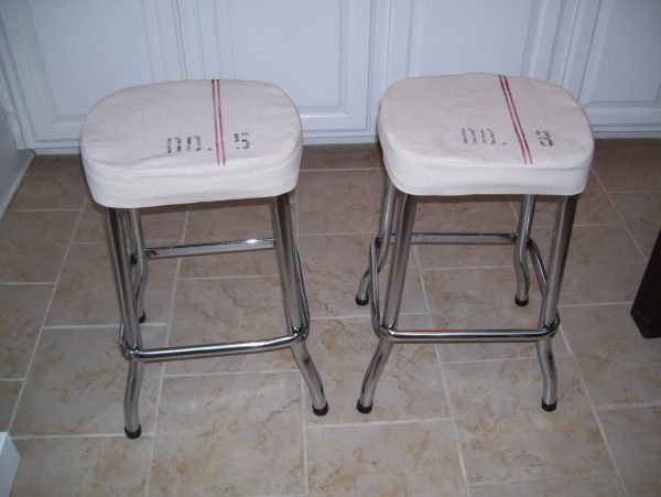
[[[293,335],[279,336],[250,342],[234,342],[226,344],[186,345],[181,347],[145,348],[128,347],[120,344],[123,356],[128,360],[141,363],[160,363],[165,360],[198,359],[204,357],[234,356],[239,354],[257,354],[291,347],[303,339],[302,331]]]

